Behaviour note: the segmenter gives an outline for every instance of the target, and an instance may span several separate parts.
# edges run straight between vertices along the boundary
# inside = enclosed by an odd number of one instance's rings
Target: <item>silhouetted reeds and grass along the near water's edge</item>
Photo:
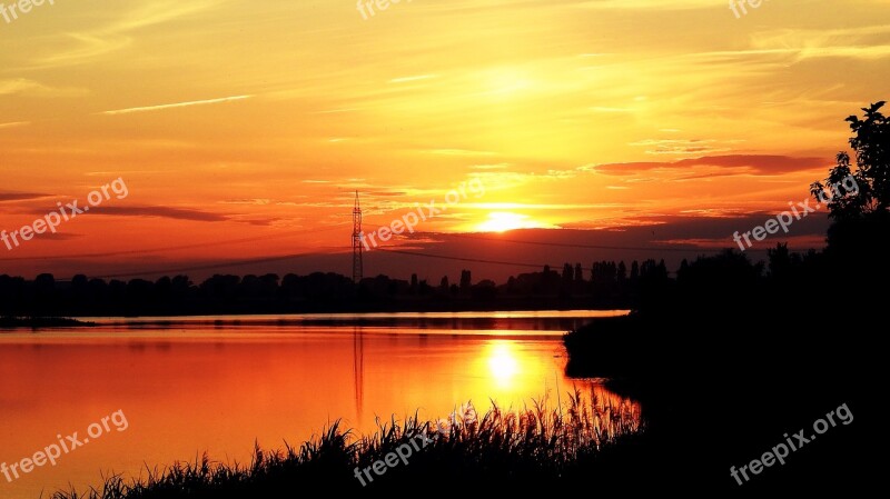
[[[452,422],[453,421],[453,422]],[[591,480],[599,487],[635,487],[626,479],[645,439],[639,408],[626,400],[575,393],[563,407],[534,405],[522,411],[467,409],[448,423],[406,418],[383,423],[373,436],[343,431],[338,423],[299,448],[264,452],[249,465],[195,462],[155,470],[142,480],[110,478],[86,493],[57,492],[53,499],[228,499],[304,497],[310,493],[473,493],[560,490]],[[399,446],[417,445],[407,463],[397,461],[373,481],[356,478]],[[407,453],[403,451],[403,453]],[[378,466],[378,467],[382,467]],[[356,471],[358,468],[359,471]],[[637,488],[639,490],[639,488]],[[347,496],[348,497],[348,496]]]

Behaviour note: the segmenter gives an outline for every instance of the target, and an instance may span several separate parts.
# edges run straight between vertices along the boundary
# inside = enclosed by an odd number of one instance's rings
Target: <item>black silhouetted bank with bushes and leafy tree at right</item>
[[[858,169],[840,153],[827,183],[852,174],[860,192],[829,203],[823,251],[795,255],[778,244],[768,262],[738,251],[684,262],[676,279],[645,289],[630,317],[566,336],[568,373],[612,378],[613,389],[643,405],[650,443],[674,443],[660,473],[694,473],[700,486],[722,475],[731,492],[749,497],[856,495],[884,476],[878,408],[887,391],[890,122],[881,106],[848,119]],[[814,197],[820,189],[814,182]],[[812,439],[814,421],[843,403],[853,422]],[[730,476],[730,467],[779,443],[799,443],[801,430],[811,442],[784,465],[749,470],[742,485]]]

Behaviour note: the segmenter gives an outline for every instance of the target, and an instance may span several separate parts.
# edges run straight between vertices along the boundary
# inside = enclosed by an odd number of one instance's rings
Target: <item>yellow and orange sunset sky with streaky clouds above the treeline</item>
[[[888,0],[740,18],[723,0],[403,0],[368,19],[354,0],[47,1],[0,17],[0,230],[118,178],[129,194],[0,244],[0,273],[347,275],[356,190],[374,230],[473,179],[484,194],[388,244],[585,267],[729,248],[805,199],[843,119],[890,97],[888,20]],[[469,265],[370,255],[366,273]]]

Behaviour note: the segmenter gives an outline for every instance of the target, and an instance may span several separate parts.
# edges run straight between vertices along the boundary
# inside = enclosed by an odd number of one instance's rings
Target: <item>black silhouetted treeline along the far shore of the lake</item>
[[[155,281],[90,279],[70,281],[43,273],[34,280],[0,276],[0,316],[166,316],[215,313],[288,313],[308,311],[475,310],[540,308],[631,308],[650,281],[668,278],[664,262],[646,260],[630,266],[594,262],[565,263],[562,273],[545,267],[540,272],[511,277],[506,283],[473,281],[469,270],[457,283],[448,276],[437,286],[387,276],[365,278],[355,286],[338,273],[316,272],[231,276],[217,275],[201,283],[188,276]]]

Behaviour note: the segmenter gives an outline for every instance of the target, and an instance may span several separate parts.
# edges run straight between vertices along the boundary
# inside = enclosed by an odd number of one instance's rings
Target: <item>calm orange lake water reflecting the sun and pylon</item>
[[[249,462],[254,442],[299,443],[343,419],[446,417],[490,399],[555,405],[597,380],[563,375],[565,330],[623,312],[377,313],[251,318],[93,319],[75,331],[0,332],[0,463],[88,437],[57,466],[9,482],[0,498],[37,498],[101,476],[145,475],[194,460]],[[558,395],[557,395],[558,393]],[[107,428],[101,427],[102,418]],[[126,418],[126,425],[123,419]],[[126,429],[125,429],[126,428]]]

